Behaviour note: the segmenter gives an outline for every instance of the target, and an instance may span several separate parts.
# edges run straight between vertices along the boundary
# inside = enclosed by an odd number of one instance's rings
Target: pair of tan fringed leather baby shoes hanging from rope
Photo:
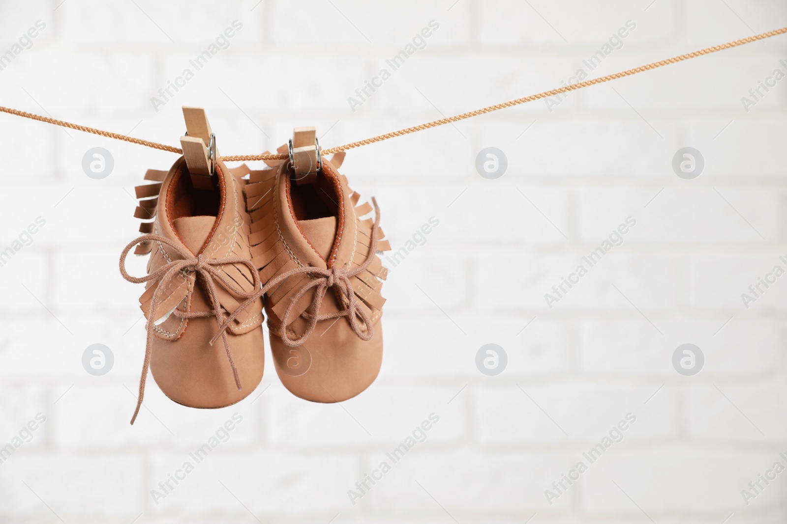
[[[184,147],[167,171],[149,170],[137,191],[144,233],[120,257],[126,280],[145,283],[139,302],[148,368],[173,401],[220,408],[246,398],[262,379],[268,331],[276,372],[300,398],[352,398],[376,378],[382,361],[380,295],[386,268],[376,251],[379,210],[338,173],[344,153],[320,156],[307,176],[290,159],[268,169],[227,168],[216,159],[190,172]],[[362,217],[375,211],[375,218]],[[146,277],[131,277],[125,259],[150,255]]]

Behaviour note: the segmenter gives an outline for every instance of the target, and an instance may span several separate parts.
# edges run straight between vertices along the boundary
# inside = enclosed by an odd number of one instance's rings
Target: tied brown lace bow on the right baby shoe
[[[360,266],[357,266],[355,269],[350,269],[350,263],[348,262],[346,266],[334,266],[330,269],[323,269],[314,266],[299,267],[296,269],[290,269],[290,271],[282,273],[278,277],[268,280],[268,282],[265,283],[262,288],[258,289],[255,293],[253,293],[253,295],[250,295],[249,298],[246,299],[246,302],[243,302],[240,306],[238,306],[238,308],[229,317],[227,317],[227,319],[224,320],[223,324],[219,325],[219,332],[217,332],[216,335],[213,335],[211,343],[215,342],[216,339],[218,339],[219,336],[224,333],[227,325],[229,325],[231,321],[235,320],[235,317],[237,317],[238,314],[244,310],[244,308],[246,308],[246,306],[249,306],[249,304],[254,300],[272,290],[284,280],[302,273],[312,277],[312,280],[308,284],[305,284],[303,288],[301,288],[301,290],[298,291],[297,294],[290,300],[290,305],[287,306],[287,309],[285,310],[282,317],[281,338],[286,346],[300,346],[302,343],[306,342],[306,339],[308,339],[310,335],[312,335],[317,322],[337,317],[347,317],[350,328],[359,339],[364,341],[371,340],[371,338],[375,335],[374,328],[372,328],[371,321],[369,320],[368,315],[364,312],[363,308],[358,307],[358,299],[355,297],[353,283],[350,281],[351,277],[354,277],[358,273],[364,271],[364,269],[368,268],[368,266],[371,264],[371,261],[374,260],[375,252],[377,251],[377,230],[379,229],[380,224],[380,210],[379,207],[377,207],[377,200],[375,200],[374,197],[372,197],[371,203],[375,207],[375,223],[371,228],[371,246],[369,246],[369,254],[366,257],[366,260],[364,260]],[[306,331],[303,333],[303,335],[297,337],[296,339],[290,339],[290,335],[287,335],[286,327],[290,324],[290,315],[292,314],[292,310],[301,297],[312,288],[316,288],[314,297],[312,299],[312,304],[309,306],[309,309],[307,309],[308,313],[304,313],[304,317],[309,321]],[[343,304],[345,307],[341,311],[337,311],[335,313],[320,314],[320,306],[323,304],[323,297],[325,296],[328,288],[334,288],[338,291],[339,295],[346,300],[345,304]],[[360,319],[366,325],[367,332],[364,333],[361,330],[357,316],[360,317]]]

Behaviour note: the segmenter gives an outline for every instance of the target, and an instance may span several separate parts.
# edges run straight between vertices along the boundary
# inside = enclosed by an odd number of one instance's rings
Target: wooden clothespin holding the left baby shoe
[[[197,189],[213,189],[216,173],[216,137],[210,129],[205,109],[183,106],[186,119],[186,136],[180,137],[183,157],[191,174],[191,183]]]

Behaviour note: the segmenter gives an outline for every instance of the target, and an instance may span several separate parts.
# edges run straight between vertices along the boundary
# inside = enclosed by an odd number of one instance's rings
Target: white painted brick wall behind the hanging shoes
[[[777,0],[61,2],[0,2],[0,53],[46,24],[0,71],[0,104],[168,144],[180,106],[198,105],[224,154],[298,125],[330,147],[547,90],[626,20],[591,76],[787,25]],[[227,49],[155,111],[233,20]],[[427,46],[353,112],[347,97],[430,20]],[[787,59],[785,38],[349,152],[342,171],[378,197],[394,250],[440,221],[387,263],[379,379],[317,405],[268,357],[227,409],[184,409],[150,381],[134,427],[141,288],[116,258],[136,234],[133,186],[174,157],[0,115],[0,250],[46,218],[0,267],[0,446],[46,415],[0,464],[0,521],[787,522],[781,476],[741,497],[787,464],[787,277],[741,301],[787,255],[787,81],[741,104]],[[96,146],[115,160],[104,180],[81,168]],[[490,146],[508,158],[497,180],[475,170]],[[694,180],[671,168],[685,146],[704,156]],[[623,244],[550,309],[544,294],[628,216]],[[113,350],[105,376],[82,368],[92,343]],[[501,375],[475,366],[486,343],[508,354]],[[696,376],[673,368],[683,343],[704,352]],[[227,442],[156,504],[235,412]],[[426,440],[353,505],[348,490],[432,412]],[[628,412],[623,441],[550,505],[545,490]]]

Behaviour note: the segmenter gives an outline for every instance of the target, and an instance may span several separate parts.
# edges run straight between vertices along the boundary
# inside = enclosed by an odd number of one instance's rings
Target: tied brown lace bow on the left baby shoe
[[[128,255],[128,251],[131,251],[132,247],[135,247],[137,244],[142,242],[153,241],[153,242],[161,242],[167,244],[168,246],[172,247],[172,249],[180,255],[179,260],[172,260],[172,262],[168,262],[161,266],[159,269],[156,269],[153,273],[150,273],[146,277],[131,277],[126,271],[125,262],[126,257]],[[161,305],[161,302],[166,298],[164,294],[165,290],[171,290],[175,286],[172,284],[176,284],[175,278],[176,275],[179,275],[182,271],[190,271],[194,273],[198,273],[202,280],[205,281],[205,287],[208,291],[208,298],[210,300],[212,310],[208,311],[188,311],[183,312],[178,310],[177,308],[172,311],[172,313],[179,318],[195,318],[195,317],[216,317],[216,322],[220,325],[221,329],[219,333],[216,333],[216,336],[213,337],[211,340],[211,344],[218,339],[221,338],[221,341],[224,343],[224,351],[227,353],[227,361],[230,363],[230,368],[232,369],[232,376],[235,378],[235,386],[238,387],[238,390],[241,389],[241,381],[240,377],[238,376],[238,369],[235,367],[235,360],[232,358],[232,353],[230,351],[229,343],[227,342],[227,326],[229,322],[224,322],[224,311],[221,308],[221,304],[219,302],[218,295],[216,294],[216,284],[213,282],[213,279],[220,280],[224,287],[229,289],[230,291],[240,295],[242,297],[251,297],[256,295],[255,292],[244,291],[241,288],[238,288],[238,285],[232,282],[231,280],[227,280],[221,273],[219,269],[216,269],[216,266],[223,266],[224,264],[245,264],[248,266],[251,274],[253,276],[253,284],[255,289],[260,288],[260,275],[257,273],[257,268],[254,267],[253,263],[249,261],[247,258],[242,257],[227,257],[227,258],[206,258],[205,255],[197,255],[194,256],[191,253],[183,250],[177,244],[172,242],[164,236],[158,235],[143,235],[139,236],[139,238],[132,240],[123,250],[123,253],[120,255],[120,274],[123,275],[124,279],[128,280],[129,282],[133,282],[134,284],[142,284],[143,282],[147,282],[149,280],[156,280],[161,277],[161,280],[157,283],[156,291],[153,291],[153,298],[150,300],[150,318],[147,322],[147,341],[145,346],[145,361],[142,363],[142,377],[139,379],[139,397],[137,398],[137,407],[134,410],[134,416],[131,417],[131,423],[133,424],[139,414],[139,408],[142,406],[142,398],[145,396],[145,382],[147,379],[147,372],[148,368],[150,368],[150,355],[153,350],[153,330],[155,328],[155,321],[157,320],[154,316],[157,313],[158,306]],[[246,302],[243,302],[242,308],[238,308],[232,315],[232,319],[238,315],[240,310],[246,308],[253,300],[249,299]]]

